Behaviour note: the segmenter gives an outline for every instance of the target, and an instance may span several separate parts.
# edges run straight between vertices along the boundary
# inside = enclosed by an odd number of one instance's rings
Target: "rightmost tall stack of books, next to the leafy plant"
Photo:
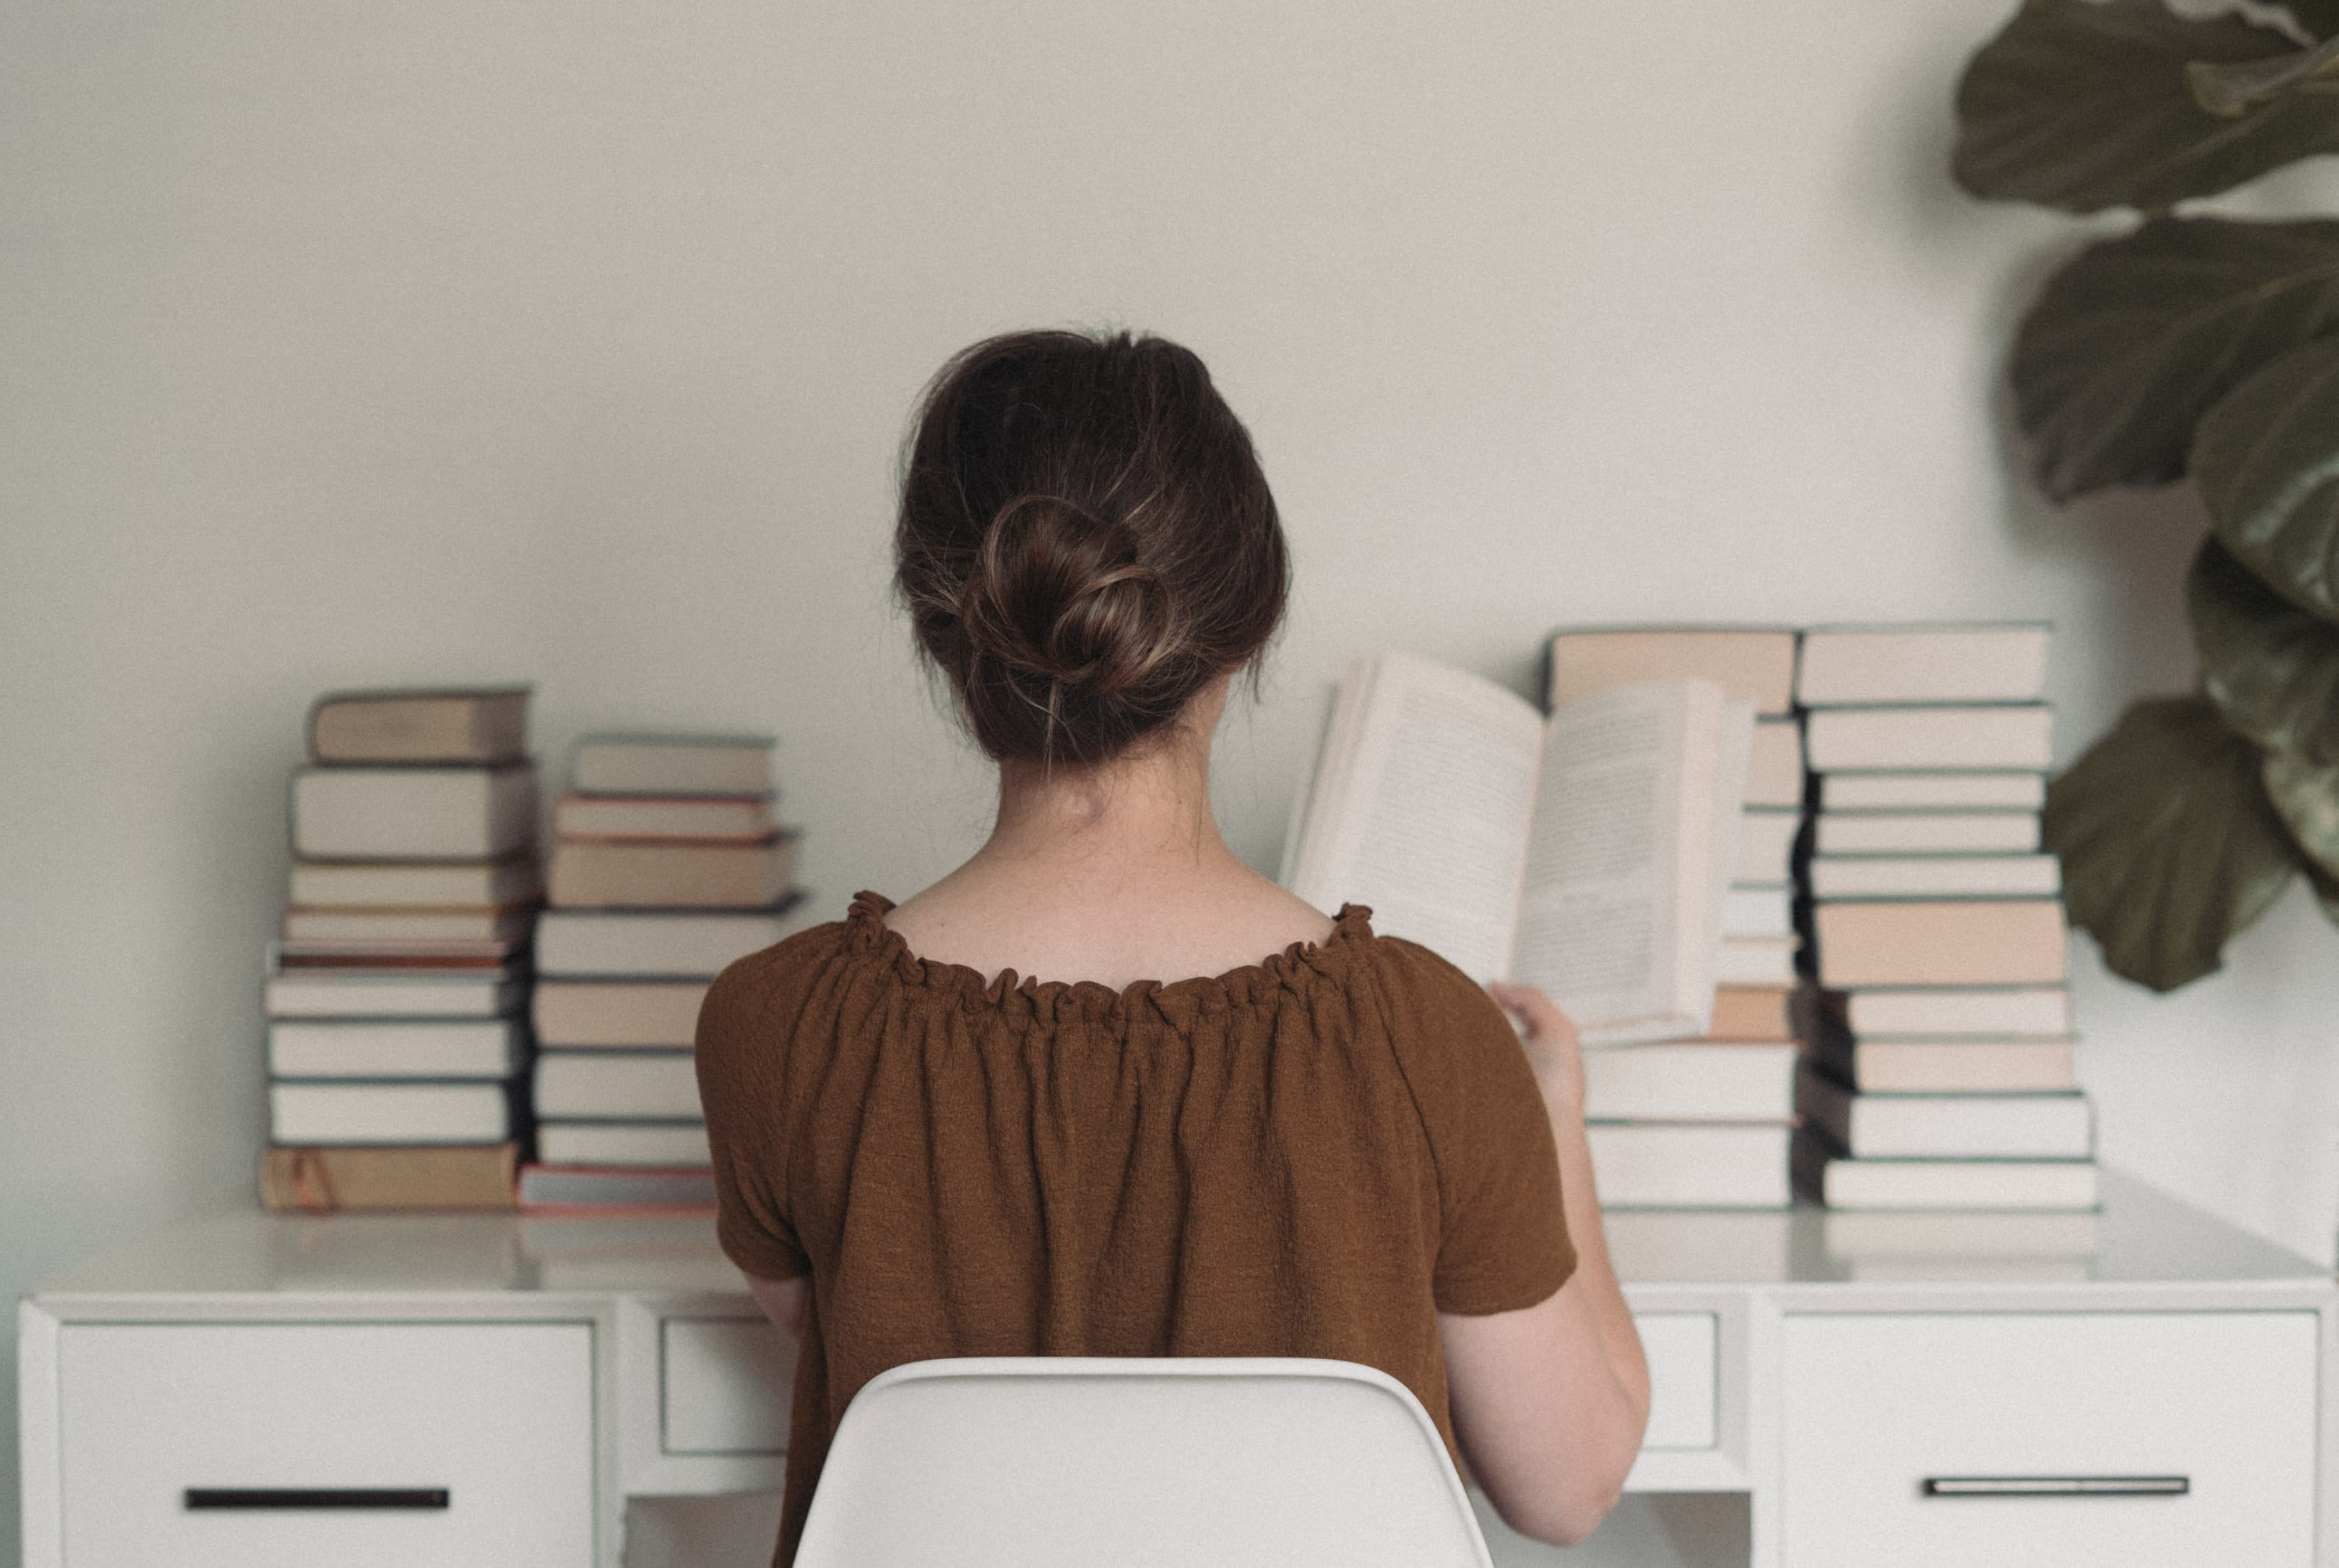
[[[1799,1182],[1831,1208],[2089,1210],[2042,625],[1806,632],[1815,988]]]

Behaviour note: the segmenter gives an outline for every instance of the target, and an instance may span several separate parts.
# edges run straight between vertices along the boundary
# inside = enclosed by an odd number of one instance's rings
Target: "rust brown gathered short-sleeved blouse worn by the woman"
[[[933,1355],[1326,1355],[1453,1449],[1438,1313],[1574,1268],[1541,1095],[1502,1009],[1345,906],[1221,976],[987,981],[893,908],[732,964],[699,1013],[718,1233],[812,1275],[779,1563],[830,1435]]]

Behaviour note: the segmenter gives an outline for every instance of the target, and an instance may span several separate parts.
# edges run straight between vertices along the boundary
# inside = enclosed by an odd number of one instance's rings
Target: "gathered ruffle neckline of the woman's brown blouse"
[[[1036,976],[1017,976],[1013,969],[985,976],[968,964],[917,957],[901,931],[884,922],[891,908],[893,901],[884,894],[868,889],[854,894],[854,903],[844,915],[847,950],[889,967],[908,985],[994,1009],[1008,1006],[1010,999],[1034,1011],[1055,1011],[1071,1004],[1088,1013],[1116,1013],[1139,1002],[1160,1006],[1191,999],[1202,1006],[1223,1006],[1303,985],[1310,976],[1338,978],[1354,950],[1373,941],[1373,910],[1361,903],[1343,903],[1324,941],[1296,941],[1256,964],[1237,964],[1223,974],[1188,976],[1181,981],[1130,981],[1120,990],[1113,990],[1104,981],[1041,981]]]

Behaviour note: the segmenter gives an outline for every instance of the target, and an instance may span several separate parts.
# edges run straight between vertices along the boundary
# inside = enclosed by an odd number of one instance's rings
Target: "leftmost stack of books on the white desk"
[[[510,1208],[543,878],[529,693],[332,693],[264,983],[269,1208]]]

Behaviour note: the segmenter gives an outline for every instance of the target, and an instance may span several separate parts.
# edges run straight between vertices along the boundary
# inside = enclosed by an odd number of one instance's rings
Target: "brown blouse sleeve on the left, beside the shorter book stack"
[[[786,1051],[795,1023],[777,950],[744,957],[699,1004],[697,1070],[713,1151],[716,1240],[763,1280],[812,1273],[786,1203]]]

